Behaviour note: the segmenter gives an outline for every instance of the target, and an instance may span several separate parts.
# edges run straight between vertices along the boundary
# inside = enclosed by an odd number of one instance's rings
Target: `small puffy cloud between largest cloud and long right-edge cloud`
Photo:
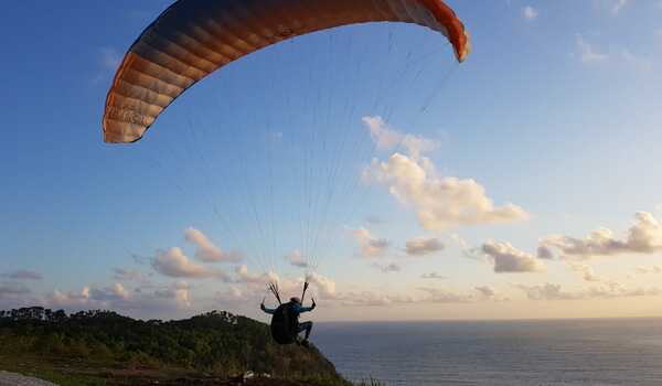
[[[535,256],[526,254],[510,243],[487,242],[480,251],[494,265],[494,272],[541,272],[545,265]]]

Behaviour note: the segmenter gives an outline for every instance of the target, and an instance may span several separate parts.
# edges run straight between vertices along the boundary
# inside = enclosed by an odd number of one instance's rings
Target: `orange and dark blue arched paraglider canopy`
[[[139,140],[184,90],[263,47],[314,31],[385,21],[440,32],[460,62],[470,51],[465,26],[441,0],[179,0],[125,55],[106,99],[104,140]]]

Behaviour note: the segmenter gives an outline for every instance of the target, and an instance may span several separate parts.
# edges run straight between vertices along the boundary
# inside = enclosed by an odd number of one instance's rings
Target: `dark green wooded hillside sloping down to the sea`
[[[280,346],[264,323],[213,311],[188,320],[138,321],[110,311],[0,311],[0,368],[67,386],[350,385],[314,347]],[[373,382],[365,385],[375,385]]]

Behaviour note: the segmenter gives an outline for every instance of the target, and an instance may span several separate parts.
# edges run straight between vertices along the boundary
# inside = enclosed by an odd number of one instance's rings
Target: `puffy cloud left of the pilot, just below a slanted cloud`
[[[157,251],[157,256],[152,259],[152,267],[157,272],[172,278],[218,278],[227,280],[225,272],[191,261],[179,247]]]

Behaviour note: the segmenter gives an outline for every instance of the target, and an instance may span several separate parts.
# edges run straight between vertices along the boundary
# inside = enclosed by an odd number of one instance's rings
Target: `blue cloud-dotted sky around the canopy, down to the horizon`
[[[448,1],[472,52],[365,24],[212,74],[103,142],[170,1],[0,15],[0,308],[319,321],[662,317],[662,2]],[[310,298],[308,298],[310,299]]]

